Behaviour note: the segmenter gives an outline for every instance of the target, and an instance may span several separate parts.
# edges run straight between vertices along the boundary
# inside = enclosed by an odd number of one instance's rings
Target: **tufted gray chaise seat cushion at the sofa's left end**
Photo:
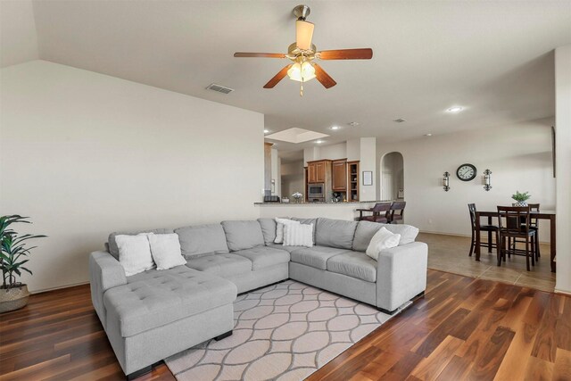
[[[236,300],[236,286],[186,266],[149,270],[103,295],[107,321],[118,321],[123,337],[162,327]]]

